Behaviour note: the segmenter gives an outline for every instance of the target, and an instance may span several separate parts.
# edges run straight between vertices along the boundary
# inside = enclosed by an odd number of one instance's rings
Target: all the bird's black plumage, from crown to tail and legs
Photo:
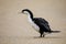
[[[59,32],[59,31],[52,31],[50,25],[48,25],[48,22],[45,19],[33,18],[33,13],[29,9],[22,10],[22,13],[24,13],[25,11],[29,13],[31,21],[40,28],[38,32],[41,34],[41,37],[44,36],[44,32],[45,33],[57,33],[57,32]]]

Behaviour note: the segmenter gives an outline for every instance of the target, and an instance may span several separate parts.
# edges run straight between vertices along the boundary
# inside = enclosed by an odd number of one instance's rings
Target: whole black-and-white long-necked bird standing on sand
[[[45,33],[58,33],[61,31],[53,31],[50,28],[48,22],[43,18],[34,18],[33,12],[29,9],[23,9],[21,13],[29,16],[31,25],[40,33],[40,37],[44,37]]]

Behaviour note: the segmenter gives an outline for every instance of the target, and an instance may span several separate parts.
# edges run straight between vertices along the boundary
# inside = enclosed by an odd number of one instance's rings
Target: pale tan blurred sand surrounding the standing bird
[[[23,9],[44,18],[61,33],[38,37],[28,15],[20,13]],[[66,44],[66,0],[0,0],[0,44]]]

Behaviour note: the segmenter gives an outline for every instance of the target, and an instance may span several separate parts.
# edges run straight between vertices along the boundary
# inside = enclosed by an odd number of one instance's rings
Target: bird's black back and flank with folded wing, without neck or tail
[[[45,19],[34,18],[34,23],[36,23],[40,26],[40,29],[42,29],[45,32],[51,31],[48,22]]]

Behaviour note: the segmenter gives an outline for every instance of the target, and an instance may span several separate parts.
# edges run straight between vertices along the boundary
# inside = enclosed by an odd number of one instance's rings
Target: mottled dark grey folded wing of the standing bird
[[[37,25],[43,25],[46,30],[50,30],[50,31],[51,31],[51,28],[50,28],[50,25],[48,25],[48,22],[47,22],[45,19],[34,18],[34,22],[35,22]]]

